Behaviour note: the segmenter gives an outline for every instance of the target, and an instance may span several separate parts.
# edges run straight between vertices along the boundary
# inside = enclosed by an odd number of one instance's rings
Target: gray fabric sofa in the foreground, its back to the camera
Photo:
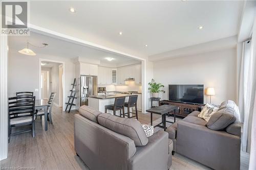
[[[147,138],[136,119],[82,106],[74,116],[77,155],[90,169],[168,169],[173,142],[158,131]]]

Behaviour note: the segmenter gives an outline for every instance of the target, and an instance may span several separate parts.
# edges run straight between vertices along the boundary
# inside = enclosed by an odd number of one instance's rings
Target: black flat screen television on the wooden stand
[[[169,85],[169,101],[203,104],[204,103],[204,85]]]

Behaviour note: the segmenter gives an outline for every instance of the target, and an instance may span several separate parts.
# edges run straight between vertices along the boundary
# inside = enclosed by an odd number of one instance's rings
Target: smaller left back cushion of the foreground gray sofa
[[[80,115],[82,115],[83,117],[86,117],[86,118],[92,120],[95,123],[98,123],[97,116],[100,115],[101,113],[102,112],[100,112],[98,110],[95,110],[94,108],[86,106],[86,105],[81,106],[79,108],[79,114]]]

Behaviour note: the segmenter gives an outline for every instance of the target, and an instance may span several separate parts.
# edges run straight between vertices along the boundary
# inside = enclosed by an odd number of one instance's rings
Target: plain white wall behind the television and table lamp
[[[237,102],[236,74],[236,48],[154,62],[154,78],[165,86],[163,100],[168,100],[168,84],[204,84],[204,88],[215,88],[212,103]]]

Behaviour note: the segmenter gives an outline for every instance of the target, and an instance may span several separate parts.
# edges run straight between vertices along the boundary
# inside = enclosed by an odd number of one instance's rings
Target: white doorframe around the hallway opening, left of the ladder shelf
[[[48,62],[54,62],[54,63],[60,63],[63,65],[63,84],[62,84],[62,111],[65,110],[65,98],[64,96],[65,95],[65,73],[66,73],[66,69],[65,69],[65,62],[63,61],[56,61],[56,60],[49,60],[49,59],[44,59],[44,58],[39,58],[39,74],[38,74],[38,77],[39,77],[39,82],[38,82],[38,87],[41,87],[41,62],[42,61],[48,61]],[[41,88],[39,88],[39,99],[41,99]]]

